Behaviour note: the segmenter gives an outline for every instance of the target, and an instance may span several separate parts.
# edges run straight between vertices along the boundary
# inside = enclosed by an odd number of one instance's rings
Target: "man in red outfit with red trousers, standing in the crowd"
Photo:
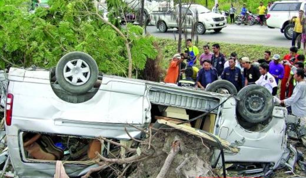
[[[297,60],[297,47],[293,46],[290,47],[290,53],[286,54],[283,58],[283,60],[287,60],[290,62],[290,64],[293,65],[293,63]],[[294,61],[292,62],[291,59],[294,58]],[[280,93],[280,100],[284,100],[285,99],[285,94],[286,94],[286,83],[289,79],[290,76],[290,67],[288,67],[288,65],[284,66],[284,78],[282,79],[282,83],[281,83],[281,93]],[[293,92],[293,83],[289,82],[289,92],[288,92],[288,97],[290,97],[292,95]]]

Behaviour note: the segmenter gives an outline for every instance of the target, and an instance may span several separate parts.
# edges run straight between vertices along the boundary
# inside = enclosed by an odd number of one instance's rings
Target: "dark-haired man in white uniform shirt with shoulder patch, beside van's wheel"
[[[257,85],[264,86],[266,89],[268,89],[272,93],[272,96],[276,96],[277,83],[274,77],[268,71],[269,71],[269,65],[267,63],[261,63],[259,65],[259,72],[261,76],[255,83]]]

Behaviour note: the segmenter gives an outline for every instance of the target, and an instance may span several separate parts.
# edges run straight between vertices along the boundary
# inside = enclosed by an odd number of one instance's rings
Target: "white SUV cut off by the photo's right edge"
[[[289,40],[293,36],[294,23],[290,23],[293,16],[298,16],[299,10],[305,12],[305,1],[277,1],[268,11],[267,26],[269,28],[280,28]]]

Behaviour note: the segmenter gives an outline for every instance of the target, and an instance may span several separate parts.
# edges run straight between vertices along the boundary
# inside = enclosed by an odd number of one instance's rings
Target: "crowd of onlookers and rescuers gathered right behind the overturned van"
[[[291,106],[293,115],[302,117],[306,123],[306,61],[303,54],[297,53],[297,47],[290,47],[289,54],[283,58],[264,51],[263,59],[250,60],[246,56],[238,58],[236,52],[226,59],[219,44],[211,46],[212,52],[209,45],[204,45],[202,54],[191,39],[187,39],[187,46],[184,53],[173,56],[165,83],[206,89],[212,82],[222,79],[231,82],[237,92],[248,85],[261,85],[271,92],[275,103]],[[201,69],[195,66],[197,62]]]

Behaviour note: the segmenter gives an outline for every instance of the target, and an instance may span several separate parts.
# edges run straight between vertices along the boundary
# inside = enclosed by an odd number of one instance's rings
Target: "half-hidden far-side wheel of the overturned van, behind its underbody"
[[[227,91],[228,94],[237,94],[236,87],[227,80],[216,80],[206,87],[206,91],[224,93]]]

